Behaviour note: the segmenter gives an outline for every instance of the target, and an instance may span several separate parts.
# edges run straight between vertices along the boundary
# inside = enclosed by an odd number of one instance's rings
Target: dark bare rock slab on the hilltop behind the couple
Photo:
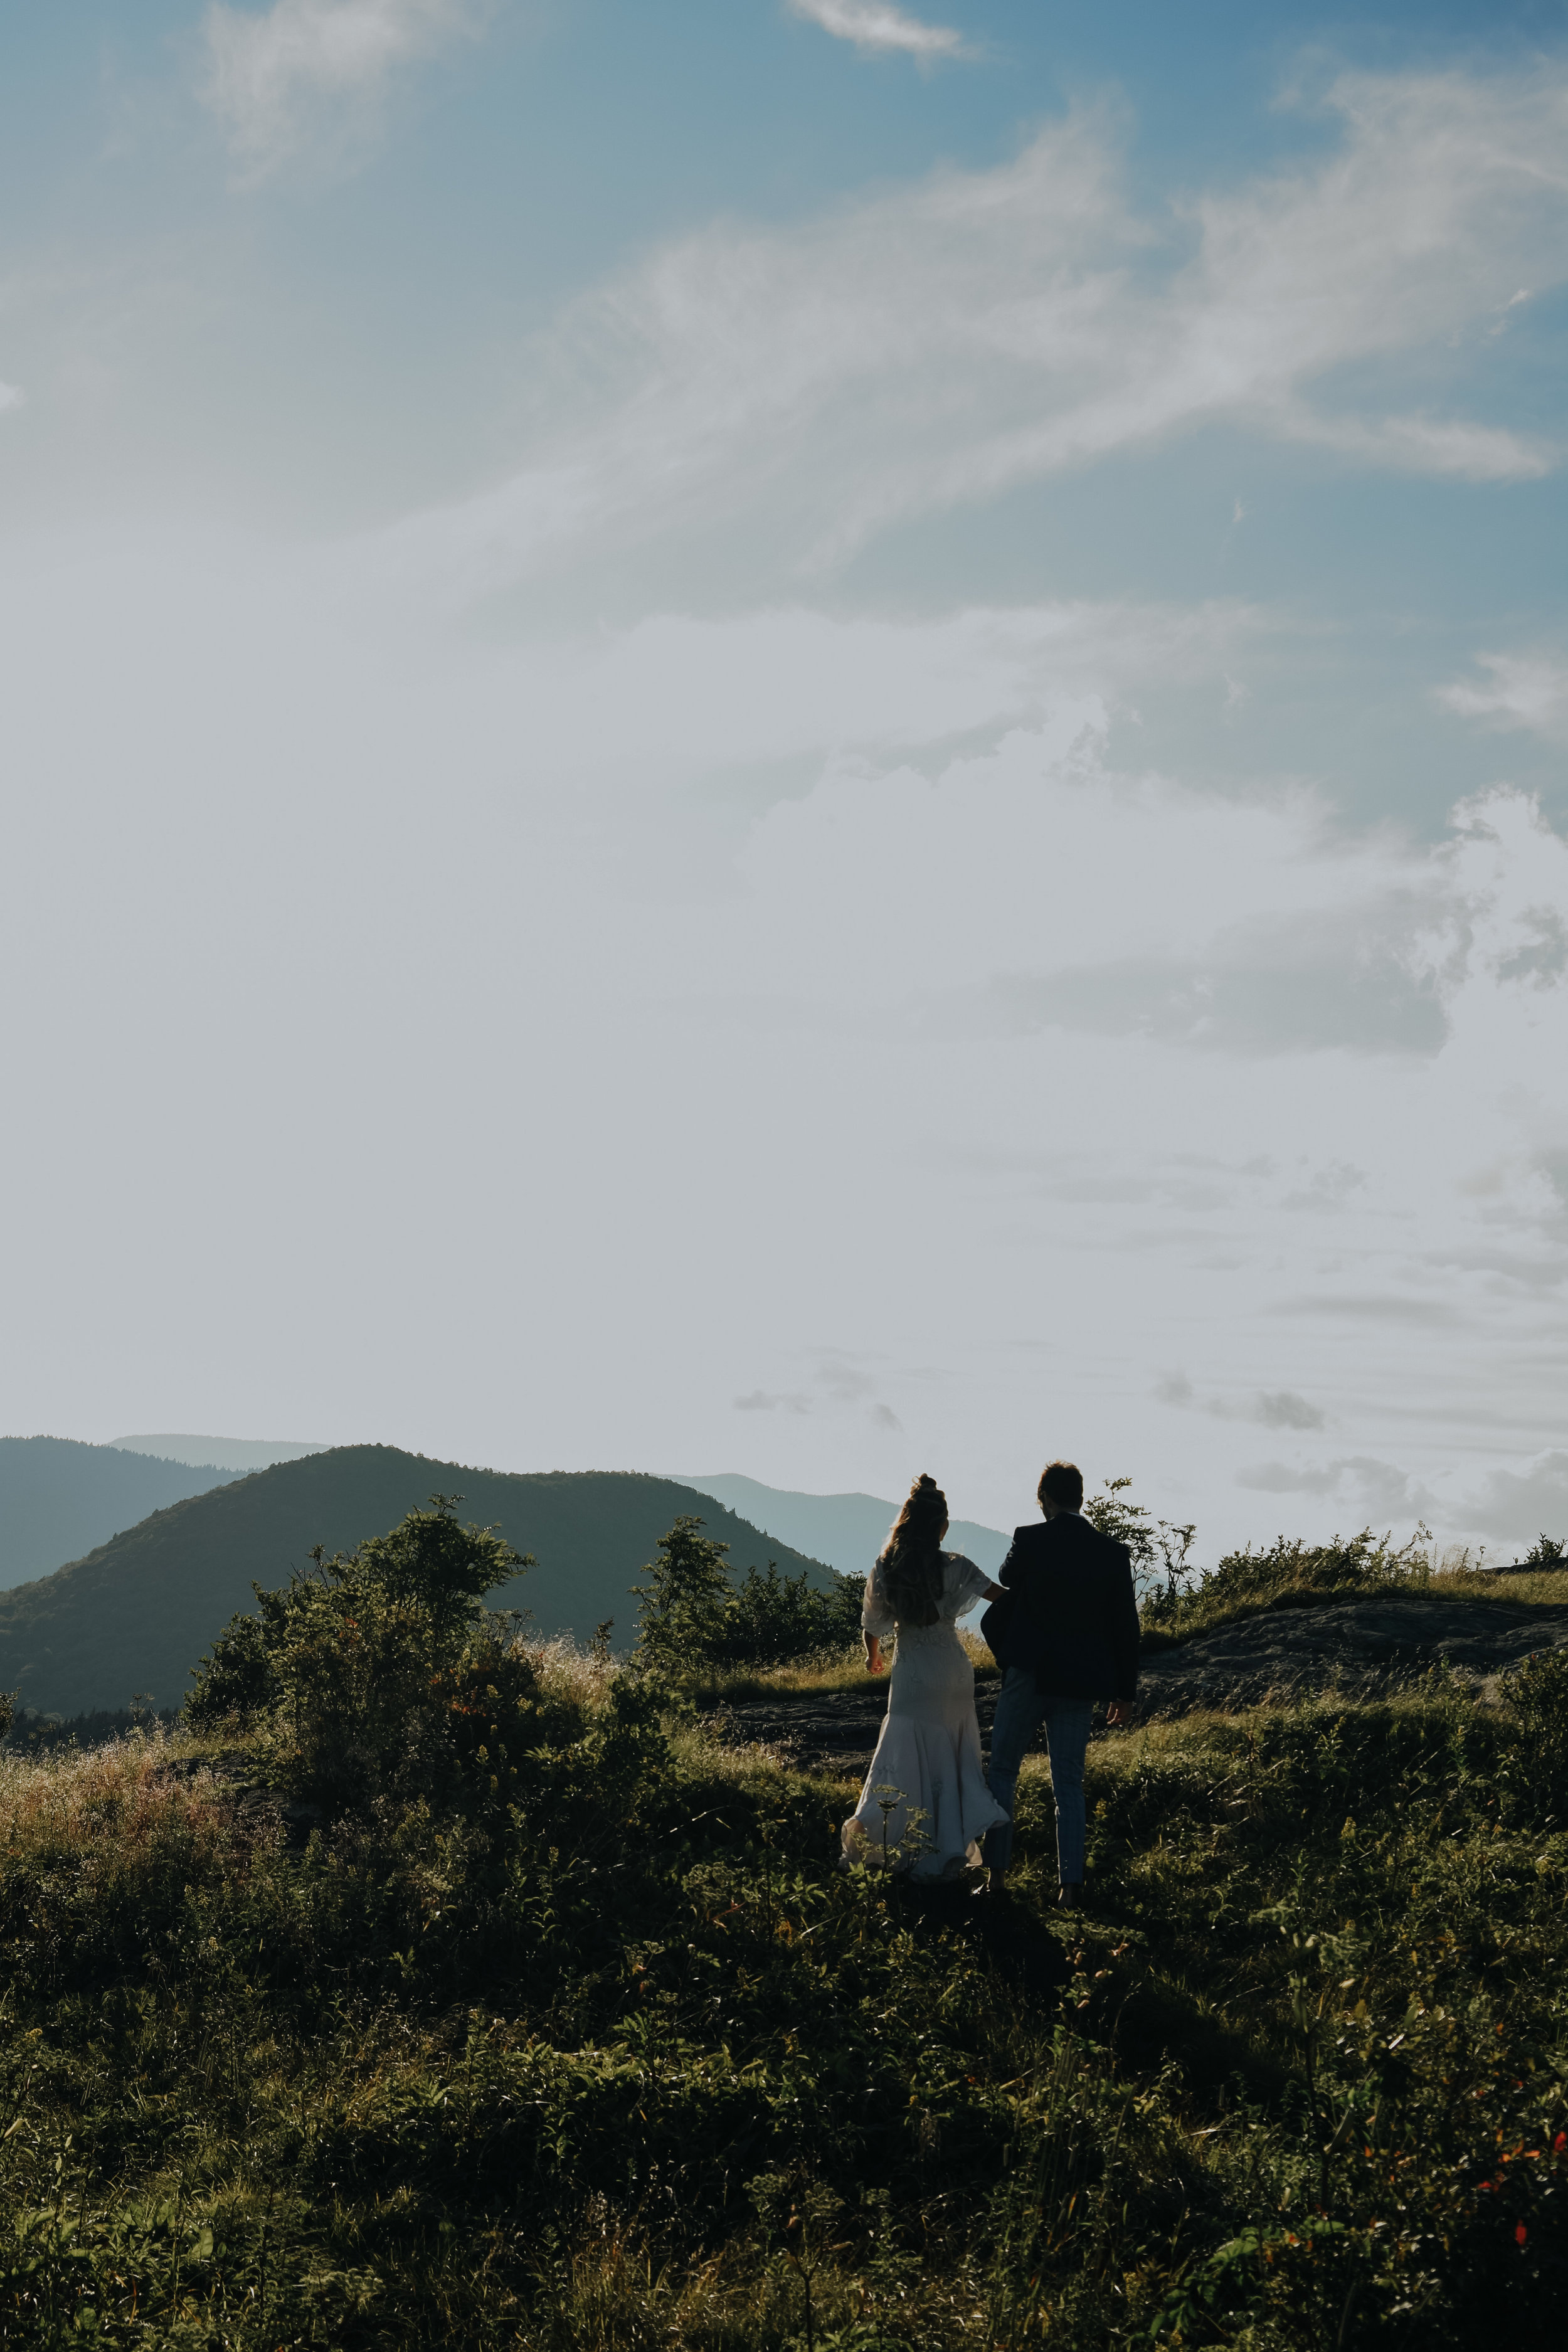
[[[1441,1599],[1425,1592],[1331,1602],[1314,1609],[1265,1609],[1143,1661],[1138,1715],[1187,1715],[1194,1708],[1253,1708],[1338,1689],[1347,1698],[1418,1682],[1450,1665],[1479,1698],[1530,1651],[1568,1644],[1568,1609],[1509,1602]],[[999,1679],[976,1677],[980,1736],[990,1738]],[[870,1764],[886,1712],[877,1691],[745,1700],[717,1717],[724,1738],[762,1740],[797,1766],[860,1773]]]

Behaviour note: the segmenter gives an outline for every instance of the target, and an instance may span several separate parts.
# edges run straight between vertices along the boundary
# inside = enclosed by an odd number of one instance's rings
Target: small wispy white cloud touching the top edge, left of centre
[[[202,101],[249,179],[308,141],[341,155],[371,127],[390,75],[482,21],[482,0],[273,0],[261,14],[212,0]]]

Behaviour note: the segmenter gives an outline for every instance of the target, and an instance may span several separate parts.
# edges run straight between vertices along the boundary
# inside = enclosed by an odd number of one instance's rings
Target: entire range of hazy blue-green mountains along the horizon
[[[538,1562],[491,1606],[527,1609],[541,1635],[578,1639],[614,1618],[618,1649],[630,1646],[635,1623],[628,1588],[684,1512],[729,1545],[736,1576],[776,1562],[823,1590],[835,1569],[870,1566],[896,1512],[877,1496],[785,1494],[729,1475],[480,1470],[378,1444],[299,1449],[242,1475],[221,1461],[132,1451],[158,1442],[0,1439],[0,1578],[21,1566],[0,1590],[0,1691],[16,1691],[21,1708],[85,1715],[132,1696],[179,1705],[200,1653],[230,1616],[254,1609],[252,1585],[287,1583],[317,1543],[341,1552],[386,1534],[437,1491],[461,1494],[465,1519],[498,1526]],[[233,1451],[212,1439],[221,1444]],[[141,1515],[103,1541],[127,1505]],[[771,1526],[755,1524],[755,1512]],[[92,1529],[99,1541],[40,1573],[52,1526]],[[987,1569],[1006,1548],[973,1522],[954,1522],[950,1543]]]

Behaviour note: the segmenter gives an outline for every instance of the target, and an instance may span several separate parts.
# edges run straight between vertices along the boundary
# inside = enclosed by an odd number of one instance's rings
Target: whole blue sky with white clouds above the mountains
[[[1568,7],[0,0],[0,1423],[1568,1536]]]

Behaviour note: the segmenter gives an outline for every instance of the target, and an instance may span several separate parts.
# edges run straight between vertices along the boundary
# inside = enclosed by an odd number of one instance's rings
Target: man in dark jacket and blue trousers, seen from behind
[[[1001,1668],[992,1724],[990,1792],[1013,1813],[1018,1771],[1046,1726],[1056,1792],[1060,1896],[1077,1910],[1084,1893],[1084,1750],[1095,1698],[1110,1698],[1112,1724],[1133,1717],[1138,1696],[1138,1599],[1126,1543],[1112,1543],[1084,1519],[1084,1477],[1051,1463],[1039,1482],[1044,1526],[1020,1526],[1001,1562],[1004,1602],[980,1632]],[[1006,1877],[1013,1823],[987,1830],[992,1889]]]

